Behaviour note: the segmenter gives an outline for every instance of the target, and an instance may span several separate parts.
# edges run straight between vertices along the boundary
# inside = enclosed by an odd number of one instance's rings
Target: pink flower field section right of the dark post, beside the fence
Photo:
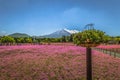
[[[93,77],[98,80],[120,80],[120,59],[93,51]]]

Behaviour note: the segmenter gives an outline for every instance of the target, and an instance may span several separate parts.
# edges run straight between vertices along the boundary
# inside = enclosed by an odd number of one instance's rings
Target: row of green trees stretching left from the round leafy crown
[[[57,42],[73,42],[73,35],[62,36],[61,38],[38,38],[38,37],[0,37],[0,45],[13,45],[13,44],[50,44]]]

